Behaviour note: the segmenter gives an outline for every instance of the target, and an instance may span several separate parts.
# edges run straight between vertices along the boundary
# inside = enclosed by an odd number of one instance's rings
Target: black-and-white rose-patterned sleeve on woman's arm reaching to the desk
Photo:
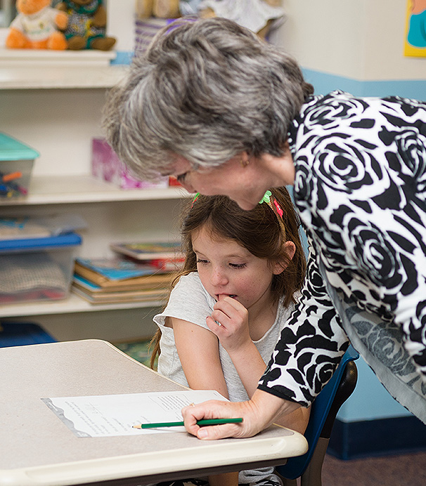
[[[309,407],[333,376],[348,346],[311,246],[301,296],[285,322],[258,388]]]

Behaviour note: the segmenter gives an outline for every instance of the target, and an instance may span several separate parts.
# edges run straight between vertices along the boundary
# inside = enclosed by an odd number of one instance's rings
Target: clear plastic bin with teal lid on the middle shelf
[[[32,166],[39,152],[0,133],[0,202],[28,194]]]

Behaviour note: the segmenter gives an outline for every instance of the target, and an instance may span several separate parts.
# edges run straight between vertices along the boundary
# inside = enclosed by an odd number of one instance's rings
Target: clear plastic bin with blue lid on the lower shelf
[[[81,243],[75,233],[0,241],[0,304],[66,298]]]

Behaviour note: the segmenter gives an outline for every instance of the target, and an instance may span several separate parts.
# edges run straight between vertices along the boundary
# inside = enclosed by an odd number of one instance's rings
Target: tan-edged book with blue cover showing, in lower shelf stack
[[[101,287],[117,287],[131,284],[160,284],[171,282],[171,272],[149,263],[135,263],[121,258],[77,258],[75,273]]]

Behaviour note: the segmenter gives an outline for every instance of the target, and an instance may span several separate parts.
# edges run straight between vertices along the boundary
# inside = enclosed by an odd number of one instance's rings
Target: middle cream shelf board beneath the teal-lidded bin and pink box
[[[190,194],[180,187],[120,189],[89,175],[33,176],[25,198],[0,199],[1,206],[69,204],[82,202],[143,201],[180,199]]]

